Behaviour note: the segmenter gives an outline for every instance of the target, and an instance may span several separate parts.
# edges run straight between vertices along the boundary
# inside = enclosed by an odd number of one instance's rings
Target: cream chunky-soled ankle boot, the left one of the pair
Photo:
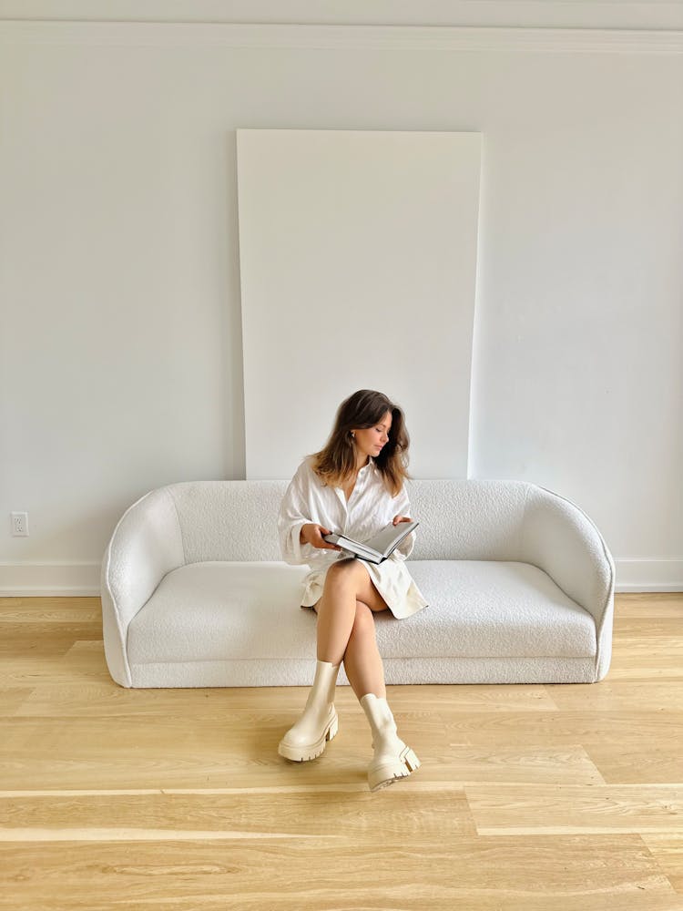
[[[320,756],[325,742],[334,737],[339,724],[332,700],[340,667],[341,662],[317,661],[315,680],[303,714],[280,741],[280,756],[295,763],[305,763]]]

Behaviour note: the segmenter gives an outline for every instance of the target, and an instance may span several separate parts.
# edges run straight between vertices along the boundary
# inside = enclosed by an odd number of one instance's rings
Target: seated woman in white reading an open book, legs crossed
[[[301,607],[318,615],[315,679],[300,720],[284,735],[278,752],[305,762],[320,756],[334,737],[338,718],[332,700],[343,660],[372,729],[372,791],[421,764],[396,731],[372,617],[389,609],[405,618],[427,607],[405,566],[415,533],[380,564],[354,557],[323,536],[336,532],[363,541],[390,523],[411,521],[403,484],[410,477],[408,445],[401,408],[382,393],[360,389],[339,406],[324,448],[306,456],[297,469],[278,517],[282,558],[311,568]]]

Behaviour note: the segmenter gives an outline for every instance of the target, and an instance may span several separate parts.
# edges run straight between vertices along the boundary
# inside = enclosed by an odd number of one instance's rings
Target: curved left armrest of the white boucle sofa
[[[119,519],[100,573],[102,633],[107,667],[121,686],[132,686],[127,660],[130,621],[172,569],[185,564],[180,523],[168,488],[141,496]]]

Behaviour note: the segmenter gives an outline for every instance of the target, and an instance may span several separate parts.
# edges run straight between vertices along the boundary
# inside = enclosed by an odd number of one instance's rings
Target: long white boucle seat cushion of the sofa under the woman
[[[375,614],[382,658],[586,658],[595,621],[541,569],[486,560],[411,560],[429,607]],[[306,566],[194,563],[169,572],[128,628],[131,664],[310,659],[317,617],[300,608]]]

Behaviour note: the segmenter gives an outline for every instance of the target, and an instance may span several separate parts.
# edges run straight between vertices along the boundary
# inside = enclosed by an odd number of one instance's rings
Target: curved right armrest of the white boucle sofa
[[[615,566],[597,527],[582,509],[546,487],[530,485],[522,528],[527,563],[543,569],[596,621],[596,680],[612,651]]]

